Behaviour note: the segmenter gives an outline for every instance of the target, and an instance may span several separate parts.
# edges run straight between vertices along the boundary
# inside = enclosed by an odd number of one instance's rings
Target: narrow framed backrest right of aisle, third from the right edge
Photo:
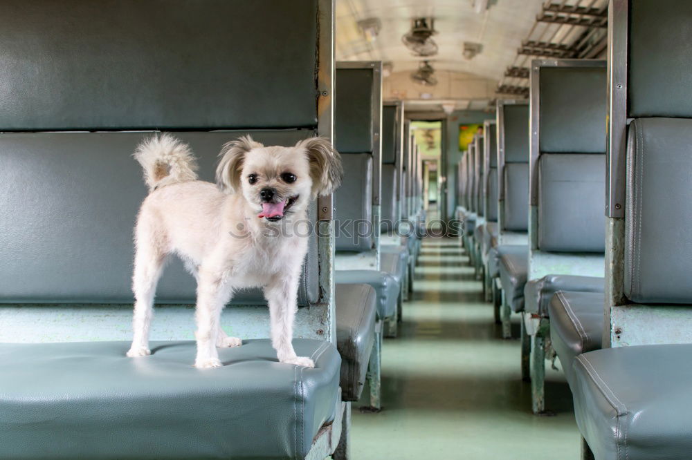
[[[505,232],[529,229],[529,105],[498,100],[498,227]]]

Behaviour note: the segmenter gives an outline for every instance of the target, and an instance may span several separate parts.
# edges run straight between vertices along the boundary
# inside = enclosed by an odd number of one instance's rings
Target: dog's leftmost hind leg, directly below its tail
[[[167,254],[154,233],[148,231],[147,225],[138,222],[136,229],[136,254],[132,291],[134,291],[134,315],[132,329],[134,336],[127,356],[147,356],[149,351],[149,328],[154,315],[154,294],[156,284],[161,278]]]

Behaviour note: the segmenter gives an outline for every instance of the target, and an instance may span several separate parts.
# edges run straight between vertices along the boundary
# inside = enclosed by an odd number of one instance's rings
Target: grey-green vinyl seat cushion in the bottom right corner
[[[689,459],[692,345],[599,349],[574,361],[574,414],[599,460]]]

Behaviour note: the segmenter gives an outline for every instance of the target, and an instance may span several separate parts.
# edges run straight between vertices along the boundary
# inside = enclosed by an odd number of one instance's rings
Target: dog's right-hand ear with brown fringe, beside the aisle
[[[310,137],[295,144],[304,148],[310,162],[312,196],[329,195],[338,189],[344,175],[341,155],[324,137]]]

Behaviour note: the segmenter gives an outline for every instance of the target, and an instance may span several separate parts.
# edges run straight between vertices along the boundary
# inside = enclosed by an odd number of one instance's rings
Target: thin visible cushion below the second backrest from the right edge
[[[548,316],[548,305],[557,291],[603,292],[605,279],[598,276],[546,275],[529,280],[524,287],[524,311]]]

